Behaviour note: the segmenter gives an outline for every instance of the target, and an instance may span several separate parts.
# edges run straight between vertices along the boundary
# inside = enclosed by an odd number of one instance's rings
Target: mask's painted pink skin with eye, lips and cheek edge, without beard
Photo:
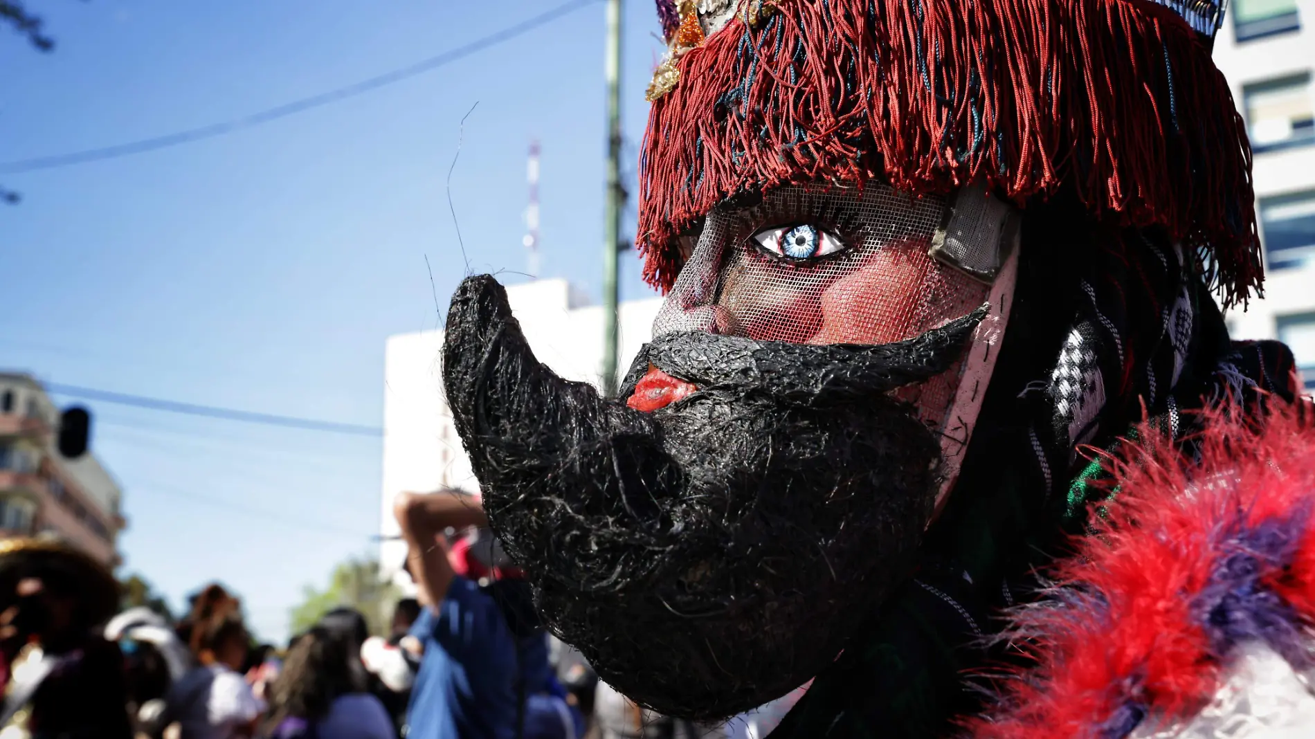
[[[994,370],[998,352],[992,347],[1003,334],[1016,271],[1011,243],[989,245],[1010,255],[993,281],[934,258],[948,208],[945,199],[913,199],[882,184],[789,185],[756,205],[719,206],[705,220],[654,335],[706,331],[788,343],[884,345],[989,304],[960,362],[892,393],[942,438],[939,513]],[[651,368],[629,405],[651,412],[694,391]]]

